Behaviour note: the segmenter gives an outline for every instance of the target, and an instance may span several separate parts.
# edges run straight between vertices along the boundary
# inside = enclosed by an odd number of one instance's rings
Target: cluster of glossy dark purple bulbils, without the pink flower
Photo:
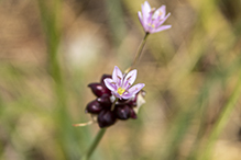
[[[133,107],[136,106],[138,94],[131,100],[119,100],[114,105],[114,108],[111,108],[112,102],[110,98],[112,94],[103,82],[103,79],[106,78],[111,78],[111,76],[103,75],[100,83],[88,84],[97,99],[87,104],[86,112],[97,115],[97,122],[100,128],[113,125],[117,119],[125,121],[129,118],[136,118]]]

